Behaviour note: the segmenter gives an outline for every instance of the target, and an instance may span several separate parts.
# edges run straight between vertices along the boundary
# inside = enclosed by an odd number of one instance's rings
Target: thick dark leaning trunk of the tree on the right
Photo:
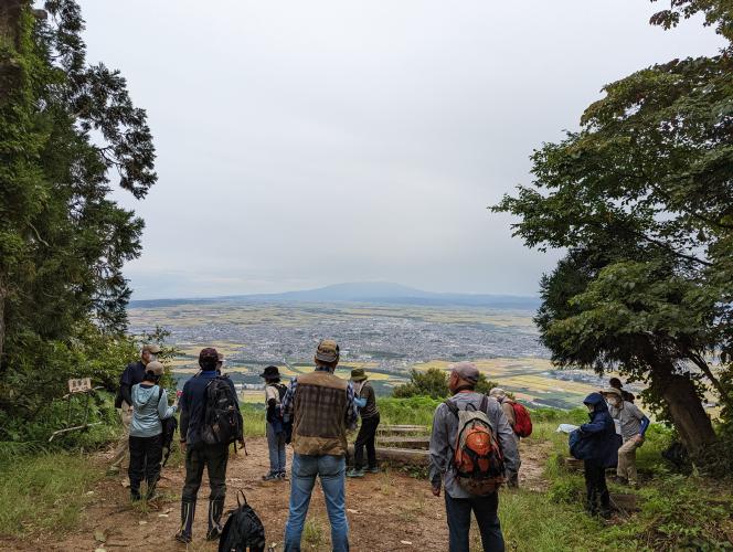
[[[671,367],[665,367],[660,372],[652,374],[651,388],[667,403],[669,417],[682,444],[694,454],[715,442],[712,422],[692,380],[687,374],[674,373]]]

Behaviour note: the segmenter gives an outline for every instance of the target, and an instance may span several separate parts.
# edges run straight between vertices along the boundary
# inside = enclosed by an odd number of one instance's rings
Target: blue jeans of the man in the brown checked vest
[[[346,469],[343,456],[293,456],[290,510],[285,524],[285,552],[300,552],[300,535],[308,514],[310,495],[320,477],[326,511],[331,522],[333,552],[349,551],[349,522],[346,513]]]

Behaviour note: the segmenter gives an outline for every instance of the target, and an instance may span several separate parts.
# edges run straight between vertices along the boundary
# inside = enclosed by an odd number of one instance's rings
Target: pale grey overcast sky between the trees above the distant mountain
[[[82,0],[88,61],[147,109],[135,298],[389,280],[533,295],[557,255],[487,205],[601,87],[713,53],[645,0]]]

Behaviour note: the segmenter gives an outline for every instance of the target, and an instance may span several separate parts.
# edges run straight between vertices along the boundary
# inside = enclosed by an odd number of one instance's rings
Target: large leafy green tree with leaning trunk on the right
[[[733,401],[733,8],[676,0],[651,19],[699,12],[727,40],[718,55],[605,86],[578,131],[534,151],[533,185],[492,208],[527,245],[567,252],[541,282],[553,360],[648,382],[691,449],[715,439],[704,393]]]

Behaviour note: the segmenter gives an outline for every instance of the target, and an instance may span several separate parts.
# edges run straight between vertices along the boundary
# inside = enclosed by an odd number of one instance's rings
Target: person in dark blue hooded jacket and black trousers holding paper
[[[610,517],[610,498],[606,486],[606,468],[615,467],[616,427],[601,393],[591,393],[583,404],[591,421],[578,429],[575,458],[583,460],[585,469],[586,510],[591,516]]]

